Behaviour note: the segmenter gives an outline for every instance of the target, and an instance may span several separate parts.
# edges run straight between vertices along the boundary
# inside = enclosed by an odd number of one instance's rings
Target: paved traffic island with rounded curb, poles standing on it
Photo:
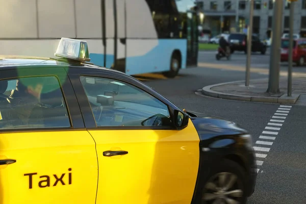
[[[293,78],[292,96],[287,96],[287,78],[279,79],[279,90],[277,94],[267,93],[268,79],[250,80],[249,86],[245,81],[228,82],[203,87],[203,95],[223,99],[265,102],[276,104],[295,104],[301,94],[306,94],[304,87],[306,78]]]

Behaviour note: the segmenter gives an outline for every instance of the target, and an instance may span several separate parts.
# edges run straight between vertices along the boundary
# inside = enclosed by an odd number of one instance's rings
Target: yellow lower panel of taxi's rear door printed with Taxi
[[[97,158],[87,131],[1,133],[2,159],[16,162],[0,165],[0,203],[95,203]]]

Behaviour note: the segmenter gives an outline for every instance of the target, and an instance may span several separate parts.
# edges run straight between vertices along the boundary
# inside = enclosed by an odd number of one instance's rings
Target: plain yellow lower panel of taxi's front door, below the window
[[[97,203],[190,203],[199,164],[192,122],[176,130],[90,130],[99,161]],[[103,153],[127,151],[107,157]],[[119,196],[120,195],[120,196]]]

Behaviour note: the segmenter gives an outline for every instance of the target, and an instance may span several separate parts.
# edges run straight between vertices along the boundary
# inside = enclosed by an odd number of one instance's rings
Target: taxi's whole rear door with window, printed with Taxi
[[[65,70],[0,69],[0,91],[0,203],[94,204],[95,143]]]

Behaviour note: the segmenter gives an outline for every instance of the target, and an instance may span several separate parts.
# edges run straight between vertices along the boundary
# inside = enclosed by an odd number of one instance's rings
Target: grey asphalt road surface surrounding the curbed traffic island
[[[268,55],[254,55],[252,66],[268,67],[268,59]],[[244,66],[245,55],[234,54],[232,61],[223,61],[216,62],[213,53],[199,53],[199,62],[233,66]],[[257,154],[265,158],[258,158],[256,192],[249,198],[248,204],[306,203],[306,138],[303,137],[306,106],[293,105],[291,108],[285,108],[289,111],[281,113],[287,114],[284,116],[277,115],[279,110],[283,109],[279,109],[277,104],[226,100],[195,94],[197,89],[204,86],[244,80],[244,74],[243,70],[197,67],[182,70],[180,76],[175,79],[158,79],[145,83],[181,108],[232,120],[251,133],[253,146],[265,150],[257,151]],[[251,79],[266,77],[265,73],[251,73]],[[275,116],[285,119],[274,118]],[[267,130],[266,127],[271,126],[268,125],[271,119],[282,121],[279,123],[282,126],[272,125],[273,129],[276,129]],[[263,131],[277,132],[277,135],[268,134],[265,136],[270,137],[269,139],[260,139],[260,136],[264,135]],[[263,144],[256,144],[257,141]],[[269,148],[269,151],[265,148]]]

